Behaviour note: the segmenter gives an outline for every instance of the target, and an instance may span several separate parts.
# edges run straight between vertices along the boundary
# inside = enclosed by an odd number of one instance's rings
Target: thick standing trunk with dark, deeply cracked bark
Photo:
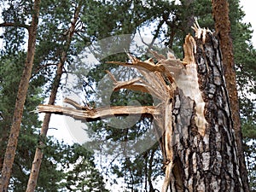
[[[244,191],[221,51],[211,32],[206,37],[195,38],[195,79],[174,92],[170,189]]]

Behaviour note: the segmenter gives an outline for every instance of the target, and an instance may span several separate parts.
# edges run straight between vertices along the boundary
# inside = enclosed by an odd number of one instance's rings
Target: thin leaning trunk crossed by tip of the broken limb
[[[67,51],[70,48],[73,34],[75,32],[75,26],[79,19],[79,12],[80,12],[81,6],[82,6],[81,3],[79,3],[79,6],[75,10],[74,18],[71,23],[71,26],[69,27],[68,32],[67,32],[67,43],[66,43],[65,49],[61,53],[61,61],[58,63],[55,80],[52,84],[52,90],[51,90],[51,93],[49,96],[49,102],[48,102],[49,105],[55,104],[55,98],[57,95],[57,91],[58,91],[59,85],[61,84],[61,76],[63,73],[64,63],[67,60]],[[31,170],[30,177],[29,177],[29,180],[27,183],[26,192],[35,191],[36,186],[37,186],[39,170],[40,170],[40,166],[41,166],[41,163],[43,160],[43,148],[45,146],[44,138],[46,138],[47,131],[49,129],[50,116],[51,116],[51,113],[46,113],[44,116],[44,121],[43,121],[43,125],[42,125],[41,131],[40,131],[40,137],[39,137],[39,138],[41,138],[41,141],[39,141],[39,146],[36,149],[34,160],[32,162],[32,170]]]

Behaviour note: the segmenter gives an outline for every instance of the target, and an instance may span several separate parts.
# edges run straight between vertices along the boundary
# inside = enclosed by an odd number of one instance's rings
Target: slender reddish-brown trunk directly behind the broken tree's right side
[[[229,3],[227,0],[212,0],[212,15],[215,20],[215,30],[219,36],[220,49],[223,55],[224,77],[230,97],[231,116],[236,133],[238,158],[241,160],[242,182],[245,183],[245,191],[249,191],[247,168],[242,148],[241,122],[239,114],[239,101],[236,90],[236,71],[233,55],[233,43],[230,36]]]

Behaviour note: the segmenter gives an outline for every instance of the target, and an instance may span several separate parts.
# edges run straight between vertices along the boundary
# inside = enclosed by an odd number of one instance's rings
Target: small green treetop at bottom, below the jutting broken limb
[[[79,144],[68,147],[62,159],[62,172],[65,178],[61,181],[63,191],[108,192],[103,177],[97,171],[93,155]]]

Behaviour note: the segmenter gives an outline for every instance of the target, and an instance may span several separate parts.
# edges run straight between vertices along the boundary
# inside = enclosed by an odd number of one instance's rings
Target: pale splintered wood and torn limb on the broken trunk
[[[196,26],[197,27],[197,26]],[[204,35],[204,30],[196,28],[196,34],[201,37]],[[200,31],[201,30],[201,31]],[[200,31],[200,32],[199,32]],[[167,57],[160,55],[155,51],[151,51],[154,58],[157,60],[154,63],[153,59],[140,61],[136,57],[127,53],[131,62],[108,61],[125,67],[134,67],[142,73],[143,78],[131,79],[128,81],[117,81],[113,74],[108,72],[108,75],[113,80],[113,91],[120,89],[139,90],[147,92],[150,95],[160,100],[157,106],[118,106],[109,108],[87,108],[79,106],[79,103],[67,99],[66,102],[74,108],[63,108],[53,105],[40,105],[39,113],[59,113],[73,117],[74,119],[84,119],[93,121],[101,118],[108,118],[111,115],[126,115],[126,114],[143,114],[148,113],[153,115],[158,127],[160,128],[160,148],[163,154],[163,164],[166,172],[162,192],[166,192],[170,186],[170,181],[174,179],[172,175],[173,169],[173,151],[172,151],[172,111],[174,106],[175,91],[182,91],[184,96],[188,96],[195,102],[195,124],[198,127],[198,132],[201,136],[207,125],[204,117],[205,103],[199,89],[197,71],[195,65],[195,39],[188,35],[185,38],[184,59],[180,61],[171,53]]]

